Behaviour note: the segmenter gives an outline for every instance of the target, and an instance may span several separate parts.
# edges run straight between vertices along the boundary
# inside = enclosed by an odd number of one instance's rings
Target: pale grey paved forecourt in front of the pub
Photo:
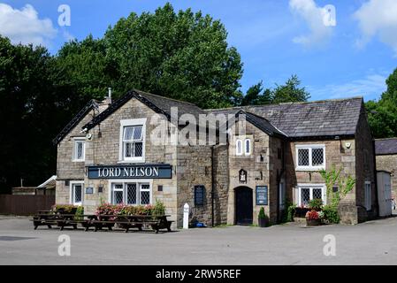
[[[63,234],[70,236],[71,256],[58,254]],[[44,226],[34,231],[27,218],[0,217],[0,264],[396,264],[396,234],[397,218],[357,226],[225,226],[155,234]],[[332,236],[336,256],[324,256]]]

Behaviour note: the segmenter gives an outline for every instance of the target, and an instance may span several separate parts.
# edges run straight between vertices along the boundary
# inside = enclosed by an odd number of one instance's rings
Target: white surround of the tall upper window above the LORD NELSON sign
[[[144,163],[146,153],[146,118],[143,119],[124,119],[120,120],[120,135],[118,145],[118,163]],[[142,126],[142,156],[125,157],[124,156],[124,128],[126,126]]]

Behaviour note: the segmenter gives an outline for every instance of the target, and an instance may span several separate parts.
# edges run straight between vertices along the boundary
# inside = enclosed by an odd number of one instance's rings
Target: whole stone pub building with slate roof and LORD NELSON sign
[[[211,116],[227,119],[186,123]],[[190,142],[168,141],[187,127]],[[216,133],[215,142],[205,137],[202,143],[202,129]],[[185,203],[191,219],[209,226],[256,224],[261,207],[277,223],[286,200],[299,206],[313,198],[329,201],[318,170],[334,165],[356,180],[341,203],[342,223],[378,214],[362,97],[202,110],[133,90],[113,103],[90,101],[54,142],[56,202],[83,205],[87,213],[101,202],[161,200],[176,226],[182,226]]]

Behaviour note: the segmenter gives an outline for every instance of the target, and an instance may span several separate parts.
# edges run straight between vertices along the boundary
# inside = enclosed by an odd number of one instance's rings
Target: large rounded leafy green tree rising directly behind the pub
[[[240,54],[228,47],[226,36],[219,20],[165,4],[154,13],[119,19],[103,41],[107,59],[118,68],[119,91],[139,88],[217,108],[241,96]]]

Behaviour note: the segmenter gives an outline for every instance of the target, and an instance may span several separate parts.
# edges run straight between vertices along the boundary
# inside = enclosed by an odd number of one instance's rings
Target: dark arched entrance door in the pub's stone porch
[[[252,189],[237,187],[236,194],[236,225],[252,224]]]

